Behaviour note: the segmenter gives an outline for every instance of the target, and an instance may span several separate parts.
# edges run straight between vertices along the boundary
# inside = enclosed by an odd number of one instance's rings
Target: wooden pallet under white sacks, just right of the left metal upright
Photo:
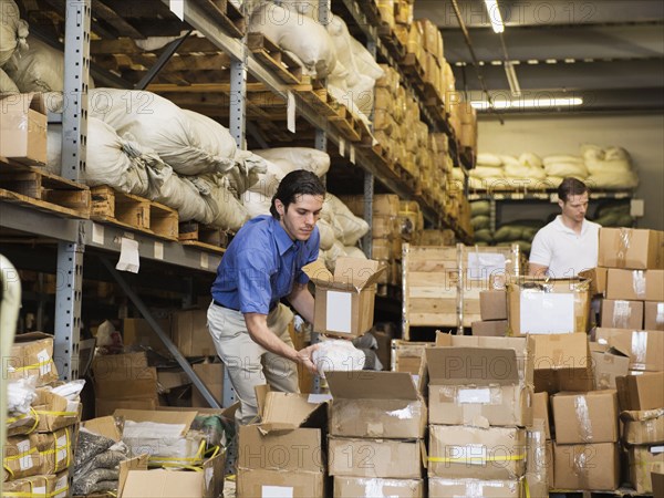
[[[163,204],[114,190],[107,185],[92,189],[91,218],[152,236],[177,240],[177,211]]]

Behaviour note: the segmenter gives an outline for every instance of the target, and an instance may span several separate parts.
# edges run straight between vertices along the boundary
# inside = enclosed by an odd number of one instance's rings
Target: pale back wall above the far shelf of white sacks
[[[479,120],[479,152],[519,155],[533,152],[579,154],[582,143],[618,145],[631,155],[639,172],[636,198],[645,200],[639,227],[664,230],[664,116],[579,115],[512,116],[505,125],[495,117]]]

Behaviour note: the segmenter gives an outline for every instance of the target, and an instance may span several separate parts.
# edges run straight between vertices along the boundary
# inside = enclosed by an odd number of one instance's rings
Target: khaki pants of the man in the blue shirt
[[[253,342],[242,313],[212,302],[208,308],[207,319],[217,354],[224,362],[240,401],[240,408],[236,412],[238,424],[249,424],[258,416],[255,386],[267,383],[273,391],[300,392],[295,363],[270,353]],[[290,346],[293,343],[288,333],[288,325],[292,319],[293,313],[283,304],[278,304],[268,314],[270,330]]]

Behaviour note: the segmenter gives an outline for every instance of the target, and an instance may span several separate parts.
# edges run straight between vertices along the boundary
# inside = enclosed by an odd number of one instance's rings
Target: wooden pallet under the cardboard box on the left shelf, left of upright
[[[0,200],[65,218],[90,219],[90,188],[38,166],[0,157]]]

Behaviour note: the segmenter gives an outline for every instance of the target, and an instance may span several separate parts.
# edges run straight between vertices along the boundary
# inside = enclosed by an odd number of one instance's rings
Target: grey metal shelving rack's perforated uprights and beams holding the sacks
[[[63,126],[63,176],[77,180],[80,173],[85,168],[85,144],[87,129],[87,82],[90,72],[90,43],[91,43],[91,12],[93,0],[68,0],[65,2],[65,66],[64,93],[71,96],[62,115]],[[170,0],[160,0],[170,6]],[[362,10],[354,0],[343,0],[353,15],[360,15]],[[240,95],[230,104],[230,132],[239,147],[245,148],[246,122],[246,92],[247,74],[251,74],[262,82],[271,92],[288,100],[292,95],[289,86],[282,83],[270,70],[264,68],[249,51],[243,40],[228,35],[220,25],[212,22],[204,9],[194,1],[184,1],[184,21],[203,33],[221,51],[231,58],[230,86],[235,95]],[[323,13],[330,12],[330,3],[320,0]],[[357,17],[356,22],[366,28],[369,49],[376,50],[381,56],[390,60],[390,54],[381,44],[380,38],[366,19]],[[395,64],[395,66],[397,66]],[[157,70],[155,70],[156,72]],[[404,77],[404,81],[407,79]],[[414,93],[415,95],[415,93]],[[340,145],[344,138],[332,127],[325,117],[314,111],[303,98],[294,95],[298,113],[317,128],[315,146],[325,149],[328,142]],[[421,105],[423,115],[434,131],[440,131],[436,120]],[[378,179],[390,190],[404,198],[413,198],[415,193],[408,186],[392,179],[386,175],[384,166],[373,159],[370,153],[362,147],[350,145],[346,154],[355,157],[355,164],[365,172],[364,195],[371,216],[374,180]],[[430,206],[423,204],[425,217],[436,226],[444,221],[444,214],[436,212]],[[54,356],[60,360],[59,367],[63,380],[77,378],[79,365],[79,338],[81,330],[81,299],[84,253],[86,249],[94,251],[111,251],[118,253],[123,237],[138,241],[141,258],[146,258],[164,263],[174,264],[183,269],[215,272],[220,261],[218,255],[209,253],[183,246],[178,242],[156,240],[141,232],[127,231],[108,225],[101,225],[91,220],[65,219],[37,211],[30,208],[3,203],[0,226],[20,231],[29,231],[58,240],[58,291],[55,297],[55,339]],[[365,247],[371,250],[371,247]],[[118,283],[128,289],[126,282],[116,271],[111,271]],[[129,289],[131,290],[131,289]],[[129,292],[133,294],[133,292]],[[153,323],[157,333],[168,340],[159,330],[156,322],[149,317],[147,309],[137,295],[129,295],[145,318]],[[170,344],[173,345],[173,344]],[[169,347],[170,349],[170,347]],[[174,346],[175,349],[175,346]],[[217,406],[216,401],[198,377],[190,372],[190,367],[181,355],[175,354],[180,366],[190,374],[193,382],[204,394],[210,406]],[[230,390],[228,391],[230,392]],[[231,400],[225,400],[229,402]]]

